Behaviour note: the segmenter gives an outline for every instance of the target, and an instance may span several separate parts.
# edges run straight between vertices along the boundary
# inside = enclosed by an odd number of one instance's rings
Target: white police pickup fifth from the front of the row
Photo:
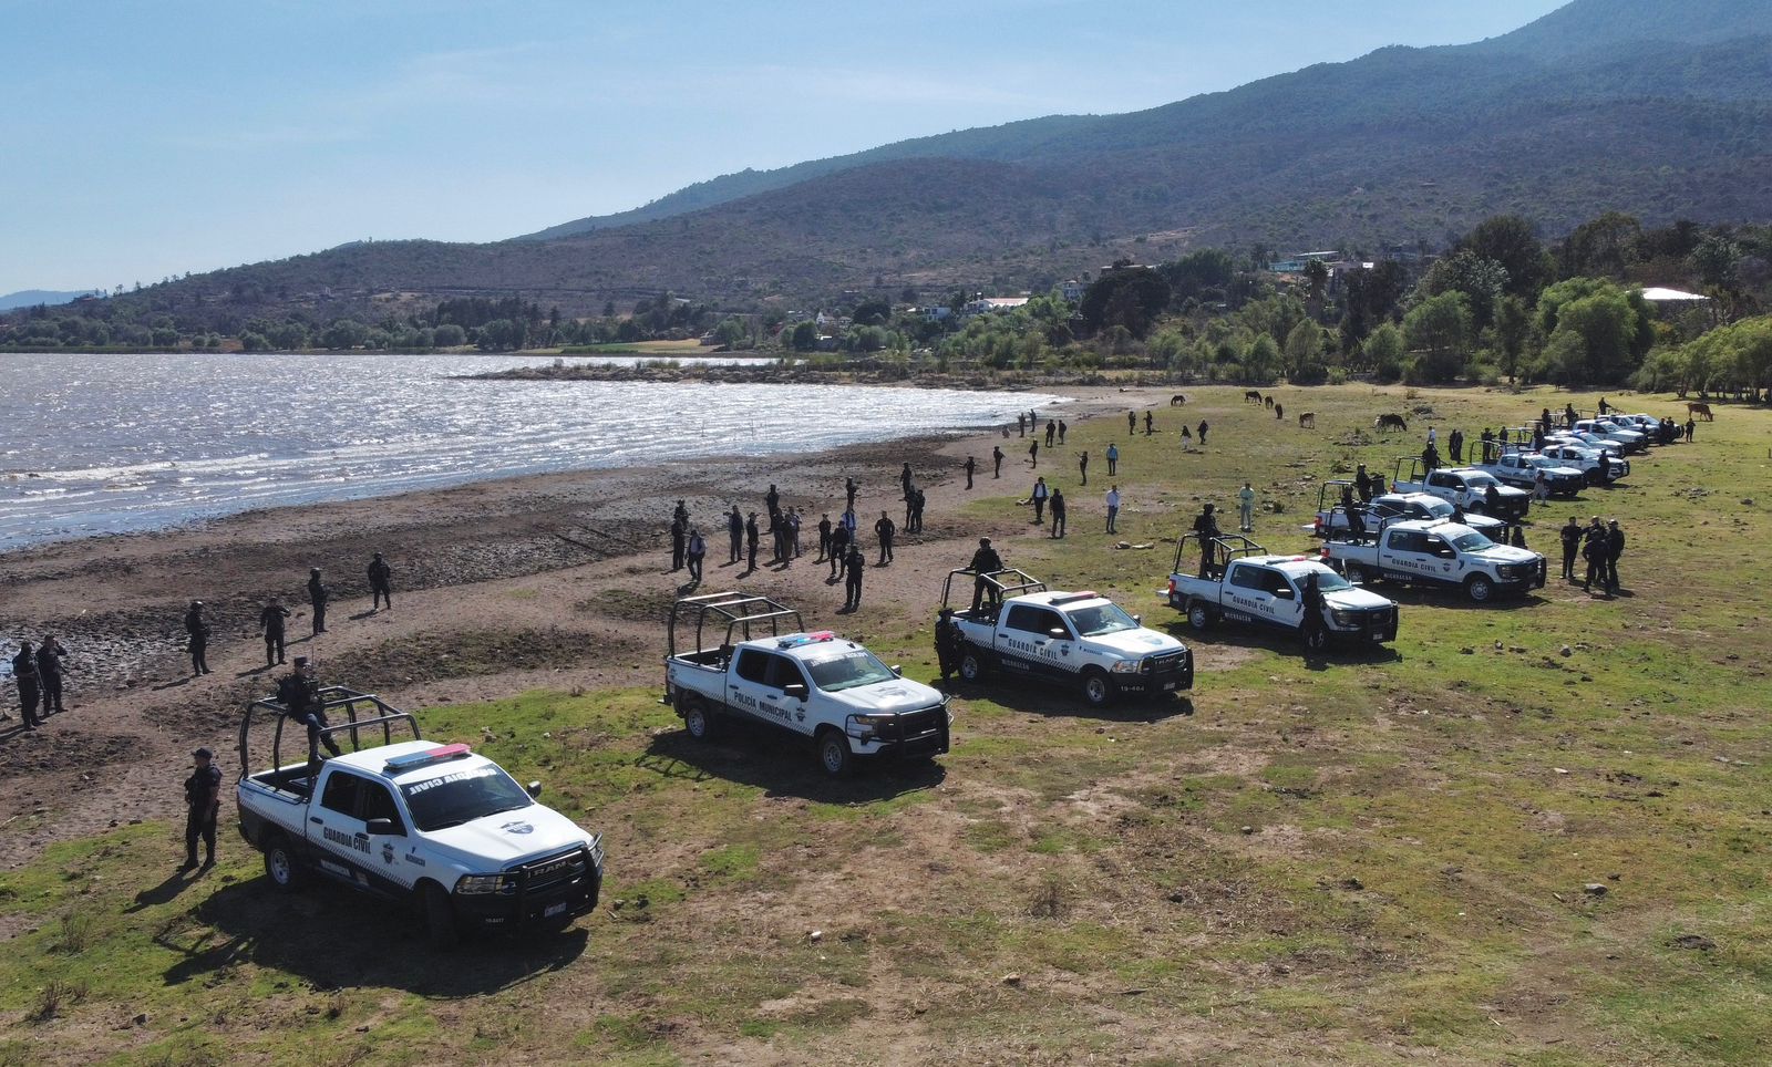
[[[1497,594],[1524,594],[1545,583],[1542,555],[1496,544],[1462,523],[1384,523],[1370,541],[1325,542],[1322,557],[1348,581],[1386,578],[1464,588],[1480,604]]]

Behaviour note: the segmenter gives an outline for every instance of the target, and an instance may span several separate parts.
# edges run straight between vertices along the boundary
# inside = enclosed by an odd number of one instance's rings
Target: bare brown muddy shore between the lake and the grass
[[[1067,392],[1076,401],[1063,408],[1069,422],[1168,402],[1157,388]],[[996,484],[992,445],[1006,454]],[[966,456],[978,459],[971,495]],[[845,631],[865,633],[886,617],[932,611],[939,574],[964,565],[978,537],[1026,532],[1017,514],[957,516],[969,496],[1026,495],[1026,441],[1014,431],[1008,441],[989,432],[804,457],[505,479],[7,553],[0,635],[35,642],[55,633],[69,649],[69,674],[67,711],[43,730],[21,732],[16,718],[0,723],[0,821],[55,812],[32,821],[41,829],[5,835],[0,865],[16,867],[53,840],[175,814],[181,767],[198,744],[214,748],[232,776],[239,711],[275,684],[257,627],[273,594],[294,613],[291,658],[312,656],[324,681],[381,693],[400,707],[540,686],[650,684],[661,670],[663,622],[688,578],[670,574],[675,500],[707,534],[703,590],[742,583],[803,606],[808,624],[829,622],[842,587],[829,587],[828,567],[813,564],[819,516],[842,514],[843,479],[854,477],[859,526],[872,544],[882,509],[902,525],[902,463],[927,493],[927,526],[900,534],[893,567],[868,569],[867,603],[843,622]],[[723,514],[734,503],[760,512],[771,484],[783,509],[806,514],[806,555],[742,576],[742,564],[727,564]],[[369,611],[365,578],[374,551],[393,565],[395,606],[379,613]],[[767,553],[766,539],[762,558]],[[317,636],[310,636],[308,567],[323,569],[333,596],[328,633]],[[207,677],[190,675],[184,652],[181,619],[191,599],[204,601],[213,629]]]

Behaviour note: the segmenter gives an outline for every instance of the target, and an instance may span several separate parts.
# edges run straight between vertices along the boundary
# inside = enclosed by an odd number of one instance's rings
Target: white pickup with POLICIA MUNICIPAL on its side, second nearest
[[[792,608],[742,592],[672,606],[664,700],[696,741],[723,716],[806,737],[833,776],[854,757],[948,752],[952,718],[939,689],[900,677],[856,642],[808,633]]]

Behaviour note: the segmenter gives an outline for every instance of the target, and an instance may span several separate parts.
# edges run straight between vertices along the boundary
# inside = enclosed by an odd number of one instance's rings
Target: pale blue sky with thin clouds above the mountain
[[[1563,0],[0,0],[0,294],[695,181],[1504,34]]]

